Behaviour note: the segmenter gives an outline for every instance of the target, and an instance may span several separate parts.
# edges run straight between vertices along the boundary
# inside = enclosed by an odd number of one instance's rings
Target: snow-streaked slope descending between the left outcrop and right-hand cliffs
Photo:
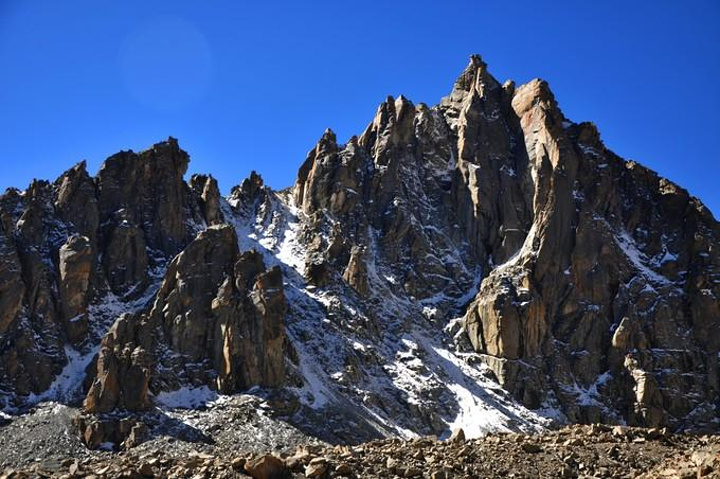
[[[352,415],[381,434],[406,437],[449,435],[460,427],[469,436],[538,430],[561,419],[511,399],[458,341],[460,325],[446,316],[460,314],[474,292],[412,298],[394,284],[400,273],[381,263],[375,247],[368,257],[369,297],[344,283],[308,285],[300,241],[307,218],[288,192],[266,194],[261,208],[242,208],[230,198],[223,213],[241,249],[261,251],[267,264],[282,268],[286,325],[302,383],[295,390],[306,407]]]

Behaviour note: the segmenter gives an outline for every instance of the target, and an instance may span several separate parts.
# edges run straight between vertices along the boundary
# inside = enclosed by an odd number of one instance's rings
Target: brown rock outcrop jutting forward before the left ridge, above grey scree
[[[150,393],[184,382],[225,393],[281,386],[286,308],[280,271],[241,254],[234,228],[209,227],[170,263],[152,308],[105,336],[85,410],[142,411]]]

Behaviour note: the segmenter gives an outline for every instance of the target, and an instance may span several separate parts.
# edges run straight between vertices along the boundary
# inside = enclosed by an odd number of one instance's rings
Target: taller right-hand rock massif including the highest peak
[[[389,98],[360,138],[327,131],[293,195],[313,284],[367,296],[363,265],[385,262],[422,301],[480,271],[465,332],[526,406],[714,427],[720,227],[566,119],[546,82],[501,85],[473,56],[438,107]]]

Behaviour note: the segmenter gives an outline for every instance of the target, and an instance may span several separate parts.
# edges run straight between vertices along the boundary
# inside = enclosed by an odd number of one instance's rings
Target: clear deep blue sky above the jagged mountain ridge
[[[0,0],[0,188],[169,135],[228,191],[326,127],[437,103],[472,53],[720,214],[720,2]]]

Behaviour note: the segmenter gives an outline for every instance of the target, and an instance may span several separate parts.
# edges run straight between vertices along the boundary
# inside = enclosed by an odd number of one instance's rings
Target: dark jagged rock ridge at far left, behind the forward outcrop
[[[183,180],[187,163],[171,138],[108,158],[96,178],[81,162],[54,183],[0,197],[5,408],[45,393],[68,354],[100,342],[118,316],[113,303],[147,293],[158,270],[217,221],[212,182],[194,193]]]

